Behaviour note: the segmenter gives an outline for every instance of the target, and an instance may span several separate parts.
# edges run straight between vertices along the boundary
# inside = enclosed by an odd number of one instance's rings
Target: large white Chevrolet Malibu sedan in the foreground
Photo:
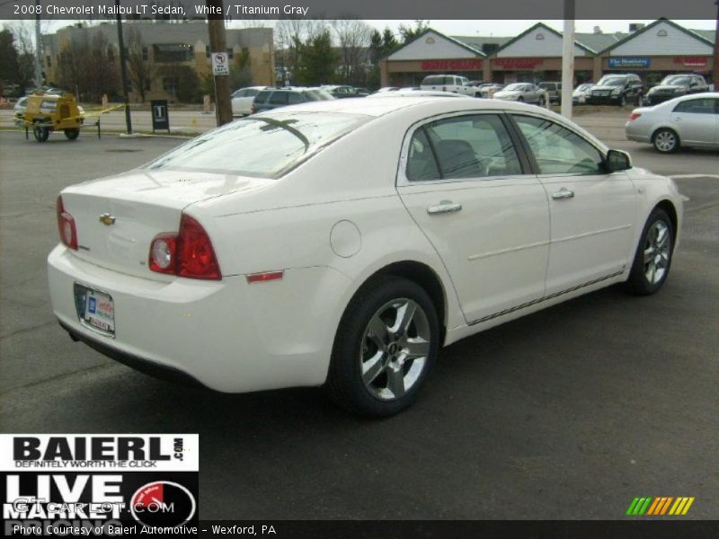
[[[399,97],[237,120],[63,190],[75,340],[222,392],[324,386],[384,416],[441,346],[615,283],[656,292],[674,183],[547,110]]]

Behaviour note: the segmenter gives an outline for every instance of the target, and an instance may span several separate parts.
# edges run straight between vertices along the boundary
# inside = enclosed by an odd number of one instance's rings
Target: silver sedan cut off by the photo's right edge
[[[662,154],[679,147],[719,148],[719,93],[694,93],[632,111],[626,137]]]

